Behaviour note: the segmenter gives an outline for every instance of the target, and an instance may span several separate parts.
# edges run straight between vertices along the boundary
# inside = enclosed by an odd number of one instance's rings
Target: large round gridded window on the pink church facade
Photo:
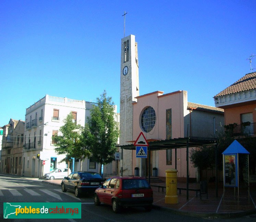
[[[156,124],[156,112],[152,107],[147,107],[141,115],[141,126],[148,133]]]

